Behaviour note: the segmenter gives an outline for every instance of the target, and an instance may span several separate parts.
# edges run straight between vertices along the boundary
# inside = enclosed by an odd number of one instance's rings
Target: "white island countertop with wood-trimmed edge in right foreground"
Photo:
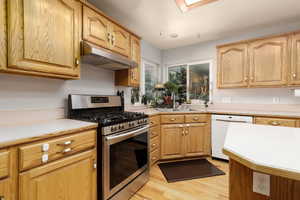
[[[300,181],[300,129],[234,123],[224,153],[254,171]]]

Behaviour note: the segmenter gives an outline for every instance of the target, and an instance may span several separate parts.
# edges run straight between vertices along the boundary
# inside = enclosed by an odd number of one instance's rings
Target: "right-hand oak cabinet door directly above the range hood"
[[[116,24],[111,24],[111,50],[130,57],[130,34]]]

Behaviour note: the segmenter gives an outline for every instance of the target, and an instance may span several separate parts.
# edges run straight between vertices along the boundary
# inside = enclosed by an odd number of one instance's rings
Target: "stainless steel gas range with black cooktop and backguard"
[[[149,179],[149,124],[120,96],[69,95],[71,119],[99,123],[98,199],[126,200]]]

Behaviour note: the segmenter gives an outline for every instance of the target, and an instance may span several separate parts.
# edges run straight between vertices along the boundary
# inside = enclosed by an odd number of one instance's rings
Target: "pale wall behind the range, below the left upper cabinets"
[[[80,80],[0,74],[0,110],[57,109],[68,94],[114,94],[114,72],[81,65]]]

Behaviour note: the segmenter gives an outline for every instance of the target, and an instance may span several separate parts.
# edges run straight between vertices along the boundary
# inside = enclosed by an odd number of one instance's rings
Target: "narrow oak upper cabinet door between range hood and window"
[[[140,85],[140,64],[141,64],[141,44],[140,40],[131,36],[131,59],[139,64],[138,67],[131,69],[131,85],[138,87]]]

